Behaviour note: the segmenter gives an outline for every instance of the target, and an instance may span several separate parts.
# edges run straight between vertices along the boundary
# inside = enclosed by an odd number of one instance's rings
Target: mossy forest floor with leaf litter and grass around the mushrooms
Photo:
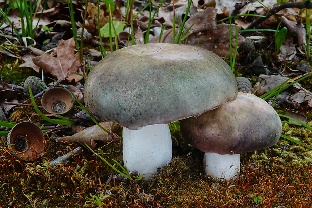
[[[309,1],[18,2],[0,0],[0,207],[312,207]],[[170,124],[173,159],[159,174],[150,182],[123,177],[116,172],[123,172],[120,126],[112,128],[115,140],[94,147],[112,168],[81,143],[55,142],[94,125],[83,105],[76,103],[63,117],[46,116],[41,96],[34,100],[38,112],[24,87],[26,78],[36,76],[30,82],[34,95],[42,91],[39,84],[60,83],[83,103],[86,75],[104,56],[155,42],[213,51],[236,77],[250,81],[245,91],[262,96],[281,115],[280,140],[242,154],[236,180],[205,175],[204,153],[184,141],[178,123]],[[24,121],[43,126],[44,149],[34,160],[23,160],[7,142],[8,131]],[[71,151],[69,159],[58,158]],[[55,160],[63,164],[51,165]]]

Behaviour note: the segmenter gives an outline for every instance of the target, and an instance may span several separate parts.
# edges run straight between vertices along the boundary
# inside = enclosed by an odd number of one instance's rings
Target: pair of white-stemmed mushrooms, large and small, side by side
[[[274,109],[251,94],[236,98],[235,77],[220,57],[200,47],[166,43],[129,46],[108,55],[89,73],[84,91],[96,119],[123,126],[124,164],[145,180],[171,160],[168,123],[174,121],[182,120],[187,141],[211,152],[204,165],[213,177],[237,177],[238,154],[277,142],[281,122]]]

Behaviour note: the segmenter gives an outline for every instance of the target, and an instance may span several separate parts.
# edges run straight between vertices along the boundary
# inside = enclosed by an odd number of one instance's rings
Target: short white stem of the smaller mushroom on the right
[[[211,175],[214,180],[235,180],[240,174],[240,154],[220,155],[208,152],[204,155],[203,165],[205,174]]]

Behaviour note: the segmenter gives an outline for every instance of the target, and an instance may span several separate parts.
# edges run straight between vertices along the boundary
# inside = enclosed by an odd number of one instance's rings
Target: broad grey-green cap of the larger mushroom
[[[220,57],[166,43],[111,53],[89,73],[84,91],[94,117],[129,129],[200,115],[236,96],[235,77]]]

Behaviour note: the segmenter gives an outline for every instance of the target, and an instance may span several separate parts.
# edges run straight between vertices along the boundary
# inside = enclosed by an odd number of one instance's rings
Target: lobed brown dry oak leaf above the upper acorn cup
[[[60,40],[56,48],[57,58],[52,55],[42,53],[34,57],[35,65],[41,67],[45,72],[51,73],[56,80],[66,80],[69,83],[80,81],[83,77],[73,74],[79,72],[79,53],[74,54],[75,43],[73,38]]]

